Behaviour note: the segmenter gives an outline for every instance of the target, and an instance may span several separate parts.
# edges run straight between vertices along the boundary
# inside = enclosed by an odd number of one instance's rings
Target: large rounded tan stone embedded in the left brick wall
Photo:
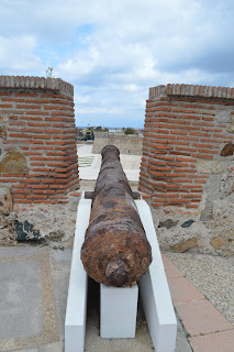
[[[27,174],[29,168],[25,157],[16,151],[8,152],[0,163],[0,173]]]

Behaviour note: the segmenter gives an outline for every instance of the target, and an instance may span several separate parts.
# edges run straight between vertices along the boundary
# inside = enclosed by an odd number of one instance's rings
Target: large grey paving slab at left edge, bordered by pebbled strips
[[[43,333],[40,261],[0,263],[0,339]]]

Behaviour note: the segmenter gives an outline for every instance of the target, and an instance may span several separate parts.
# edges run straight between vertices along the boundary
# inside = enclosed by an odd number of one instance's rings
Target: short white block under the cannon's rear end
[[[100,285],[101,338],[135,338],[138,286]]]

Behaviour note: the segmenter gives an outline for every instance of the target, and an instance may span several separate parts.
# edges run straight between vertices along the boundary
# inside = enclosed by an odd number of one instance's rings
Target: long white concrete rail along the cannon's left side
[[[80,199],[76,232],[74,239],[74,251],[70,268],[70,280],[67,298],[67,311],[65,320],[65,351],[83,352],[86,336],[86,311],[87,311],[87,284],[88,275],[80,260],[80,250],[85,233],[89,224],[91,210],[90,199]]]

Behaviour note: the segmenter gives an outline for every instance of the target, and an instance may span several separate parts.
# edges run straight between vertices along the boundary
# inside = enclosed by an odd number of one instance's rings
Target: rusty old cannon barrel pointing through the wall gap
[[[121,287],[145,274],[152,249],[120,163],[120,151],[107,145],[101,154],[81,261],[96,282]]]

